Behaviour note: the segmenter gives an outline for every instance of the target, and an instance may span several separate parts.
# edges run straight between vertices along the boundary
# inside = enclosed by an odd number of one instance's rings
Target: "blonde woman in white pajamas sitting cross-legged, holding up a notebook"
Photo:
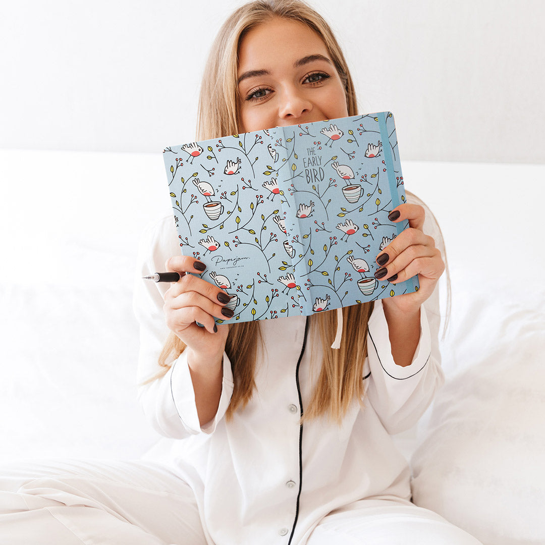
[[[222,27],[199,110],[202,140],[354,115],[356,102],[313,10],[255,2]],[[138,284],[139,397],[160,433],[183,439],[171,466],[14,473],[0,496],[0,537],[13,534],[0,541],[37,543],[39,532],[56,544],[478,543],[410,503],[409,468],[390,437],[417,421],[443,381],[444,270],[423,207],[404,204],[391,217],[410,228],[377,256],[380,272],[393,283],[419,274],[420,290],[344,309],[339,350],[330,348],[336,313],[215,326],[232,312],[212,284],[192,275]],[[142,276],[206,264],[179,255],[172,217],[144,237],[141,262]]]

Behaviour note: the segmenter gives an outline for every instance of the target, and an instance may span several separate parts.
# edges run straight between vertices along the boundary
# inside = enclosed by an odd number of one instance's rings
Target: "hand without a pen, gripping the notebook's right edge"
[[[445,264],[441,252],[435,247],[435,240],[422,231],[424,209],[418,204],[405,203],[393,209],[389,217],[396,211],[399,216],[391,221],[398,223],[409,220],[409,227],[379,253],[376,261],[380,268],[375,276],[379,275],[379,280],[391,278],[389,281],[397,284],[418,275],[420,288],[417,292],[383,299],[383,304],[389,307],[390,311],[410,314],[416,312],[432,294],[435,284],[445,270]]]

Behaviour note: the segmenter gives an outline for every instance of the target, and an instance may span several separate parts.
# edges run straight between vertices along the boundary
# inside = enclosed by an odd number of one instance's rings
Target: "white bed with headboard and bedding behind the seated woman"
[[[545,543],[545,166],[405,161],[403,177],[452,284],[446,384],[397,438],[414,501],[485,545]],[[2,150],[0,180],[0,462],[160,458],[131,296],[140,233],[170,213],[161,154]]]

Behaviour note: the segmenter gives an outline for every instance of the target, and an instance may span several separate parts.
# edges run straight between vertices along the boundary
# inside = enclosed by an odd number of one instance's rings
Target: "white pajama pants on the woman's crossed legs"
[[[206,545],[207,541],[195,496],[171,469],[143,461],[64,460],[0,467],[0,543]],[[252,545],[259,543],[256,536]],[[480,542],[409,502],[360,500],[326,516],[307,541],[307,545],[341,544]]]

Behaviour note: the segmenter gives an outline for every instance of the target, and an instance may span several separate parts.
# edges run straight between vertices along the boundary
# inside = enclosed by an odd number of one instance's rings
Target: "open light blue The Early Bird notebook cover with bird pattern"
[[[309,316],[419,288],[376,280],[376,256],[408,222],[391,112],[164,152],[181,253],[231,295],[229,323]],[[222,323],[222,319],[216,319]]]

